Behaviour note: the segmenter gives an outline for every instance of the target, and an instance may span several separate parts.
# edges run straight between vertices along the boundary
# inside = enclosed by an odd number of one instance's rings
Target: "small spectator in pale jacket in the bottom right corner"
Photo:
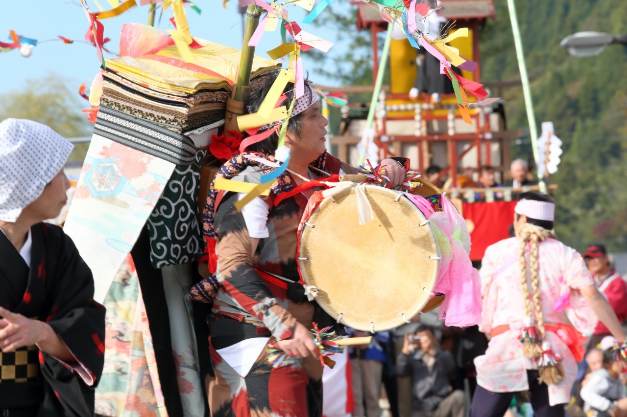
[[[623,369],[623,361],[614,358],[613,349],[603,351],[603,367],[591,373],[589,381],[581,388],[587,416],[627,416],[627,398],[619,378]]]

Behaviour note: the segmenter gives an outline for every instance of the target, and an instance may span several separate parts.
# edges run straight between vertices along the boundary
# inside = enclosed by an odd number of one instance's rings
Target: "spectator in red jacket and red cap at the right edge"
[[[618,321],[623,323],[627,319],[627,285],[611,267],[608,251],[603,245],[591,245],[586,249],[584,260],[599,291],[603,292],[608,299]],[[594,348],[603,337],[609,334],[608,328],[599,322],[590,338],[589,348]]]

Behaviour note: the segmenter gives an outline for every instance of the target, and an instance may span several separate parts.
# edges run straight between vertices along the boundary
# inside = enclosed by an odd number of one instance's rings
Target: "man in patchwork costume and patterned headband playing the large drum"
[[[253,85],[245,102],[247,113],[258,110],[276,76],[265,76]],[[292,103],[293,89],[288,83],[284,105]],[[259,131],[282,122],[261,126]],[[208,390],[213,415],[226,415],[231,409],[236,416],[322,415],[322,364],[310,336],[312,321],[317,320],[315,303],[307,301],[300,284],[289,284],[299,279],[297,229],[314,193],[307,178],[357,172],[326,152],[326,125],[317,95],[306,82],[305,94],[295,101],[288,120],[288,171],[271,186],[270,195],[256,197],[240,212],[234,204],[245,194],[217,192],[213,186],[209,192],[204,232],[209,247],[216,239],[220,284],[209,317],[215,376]],[[260,183],[263,173],[278,167],[277,143],[278,130],[234,155],[217,177]],[[392,185],[404,181],[408,162],[399,159],[386,159],[380,165]],[[210,302],[218,282],[210,275],[192,289],[192,299]],[[288,354],[274,366],[265,351],[268,341],[277,341]]]

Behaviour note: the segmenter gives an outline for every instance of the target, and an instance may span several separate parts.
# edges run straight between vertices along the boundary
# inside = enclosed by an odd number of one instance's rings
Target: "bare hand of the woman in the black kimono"
[[[10,312],[0,307],[0,349],[13,352],[42,342],[48,332],[43,321],[28,319],[21,314]]]

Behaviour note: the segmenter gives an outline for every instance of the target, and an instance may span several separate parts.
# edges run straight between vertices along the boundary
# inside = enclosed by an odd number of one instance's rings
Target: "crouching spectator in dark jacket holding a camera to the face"
[[[466,416],[463,391],[451,389],[455,361],[449,352],[438,349],[431,327],[416,323],[416,330],[404,336],[396,373],[411,376],[412,417]]]

